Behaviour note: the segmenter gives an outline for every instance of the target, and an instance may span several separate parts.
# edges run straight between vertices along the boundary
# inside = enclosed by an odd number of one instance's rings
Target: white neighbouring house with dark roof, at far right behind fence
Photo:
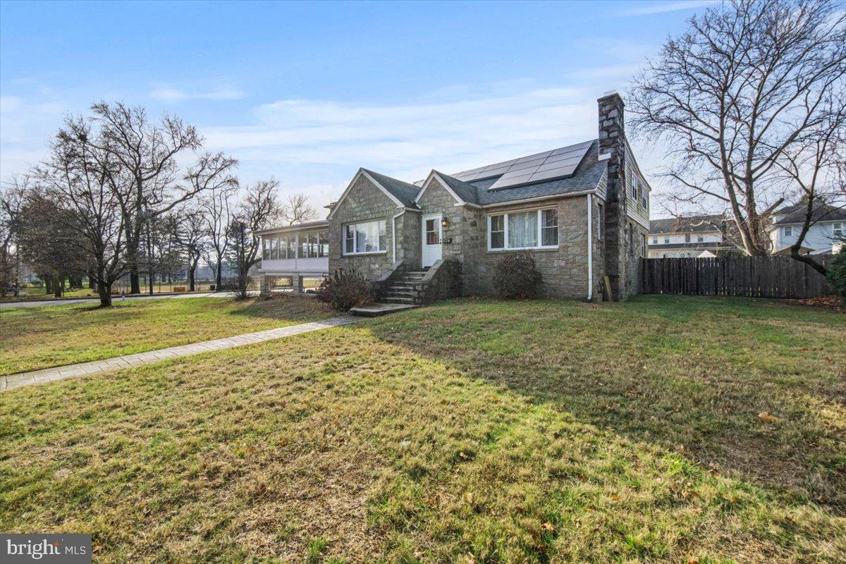
[[[796,243],[805,224],[806,205],[788,205],[776,211],[769,227],[773,254],[788,252]],[[835,253],[846,238],[846,209],[834,205],[818,205],[811,216],[813,222],[802,241],[803,249],[810,255]]]

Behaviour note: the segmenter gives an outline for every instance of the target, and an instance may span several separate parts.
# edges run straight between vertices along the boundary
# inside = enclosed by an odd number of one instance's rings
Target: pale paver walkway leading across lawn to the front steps
[[[0,376],[0,392],[11,390],[12,388],[20,386],[30,386],[31,384],[64,380],[65,378],[95,374],[97,372],[105,372],[107,370],[119,370],[122,368],[128,368],[129,366],[151,364],[164,359],[174,359],[176,357],[190,356],[191,354],[217,351],[223,348],[251,345],[255,342],[272,341],[273,339],[291,337],[293,335],[299,335],[300,333],[321,331],[321,329],[328,329],[330,327],[349,325],[350,323],[355,323],[360,319],[361,318],[356,318],[353,315],[343,315],[342,317],[333,317],[328,320],[300,323],[299,325],[280,327],[278,329],[267,329],[266,331],[255,331],[254,333],[244,333],[243,335],[235,335],[234,337],[212,339],[211,341],[192,342],[189,345],[180,345],[179,347],[160,348],[146,353],[126,354],[112,359],[95,360],[93,362],[84,362],[80,364],[68,364],[65,366],[58,366],[56,368],[46,368],[43,370],[33,370],[32,372],[21,372],[19,374]]]

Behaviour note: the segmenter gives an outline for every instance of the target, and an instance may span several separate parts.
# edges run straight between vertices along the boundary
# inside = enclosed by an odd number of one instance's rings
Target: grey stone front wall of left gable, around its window
[[[336,205],[329,219],[329,270],[338,268],[361,272],[365,277],[381,278],[393,265],[393,242],[397,242],[397,260],[403,260],[407,268],[420,266],[420,214],[405,211],[395,223],[393,216],[403,211],[364,174],[356,179],[347,197]],[[385,220],[387,249],[368,255],[343,254],[343,226],[354,222]]]

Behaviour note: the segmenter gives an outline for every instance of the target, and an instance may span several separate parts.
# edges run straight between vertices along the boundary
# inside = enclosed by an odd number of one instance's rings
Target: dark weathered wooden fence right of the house
[[[826,255],[818,260],[825,264],[830,257]],[[788,256],[731,256],[642,259],[640,292],[818,298],[830,294],[831,289],[819,272]]]

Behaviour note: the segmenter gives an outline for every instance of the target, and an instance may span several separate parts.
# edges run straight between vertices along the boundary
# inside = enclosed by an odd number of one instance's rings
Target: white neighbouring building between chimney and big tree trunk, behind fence
[[[724,222],[719,215],[653,219],[649,222],[649,258],[709,257],[732,249],[722,238]]]

